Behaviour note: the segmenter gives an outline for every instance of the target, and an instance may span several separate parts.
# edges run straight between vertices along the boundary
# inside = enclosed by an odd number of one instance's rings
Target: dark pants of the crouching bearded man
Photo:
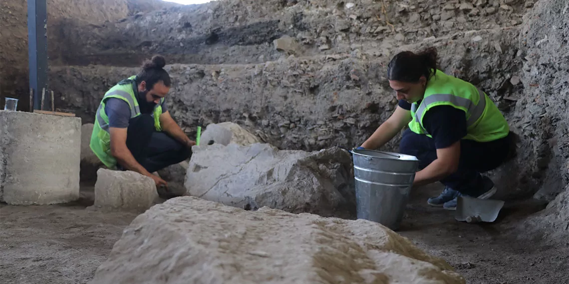
[[[186,160],[192,149],[154,128],[154,118],[142,114],[129,120],[126,147],[150,173]]]

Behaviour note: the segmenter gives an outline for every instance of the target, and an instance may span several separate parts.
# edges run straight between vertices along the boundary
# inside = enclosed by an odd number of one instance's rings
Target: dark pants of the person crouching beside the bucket
[[[477,196],[483,184],[480,173],[496,169],[506,160],[510,139],[511,133],[505,138],[485,143],[461,140],[459,168],[440,182],[462,194]],[[409,129],[403,132],[399,152],[417,157],[419,169],[426,168],[437,158],[435,141]]]

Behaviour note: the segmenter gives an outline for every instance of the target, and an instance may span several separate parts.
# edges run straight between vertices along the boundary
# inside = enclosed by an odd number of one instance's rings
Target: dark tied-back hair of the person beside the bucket
[[[397,53],[387,65],[387,78],[393,81],[416,83],[421,76],[434,76],[437,68],[436,48],[427,48],[420,53],[403,51]]]

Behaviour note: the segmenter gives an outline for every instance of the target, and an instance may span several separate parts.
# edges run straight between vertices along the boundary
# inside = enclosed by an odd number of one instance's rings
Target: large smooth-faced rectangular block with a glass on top
[[[54,204],[79,199],[81,119],[0,111],[0,199]]]

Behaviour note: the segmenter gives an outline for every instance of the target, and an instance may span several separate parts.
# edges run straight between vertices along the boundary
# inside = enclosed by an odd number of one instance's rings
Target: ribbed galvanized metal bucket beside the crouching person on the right
[[[413,179],[415,156],[353,149],[357,218],[396,230],[401,224]]]

